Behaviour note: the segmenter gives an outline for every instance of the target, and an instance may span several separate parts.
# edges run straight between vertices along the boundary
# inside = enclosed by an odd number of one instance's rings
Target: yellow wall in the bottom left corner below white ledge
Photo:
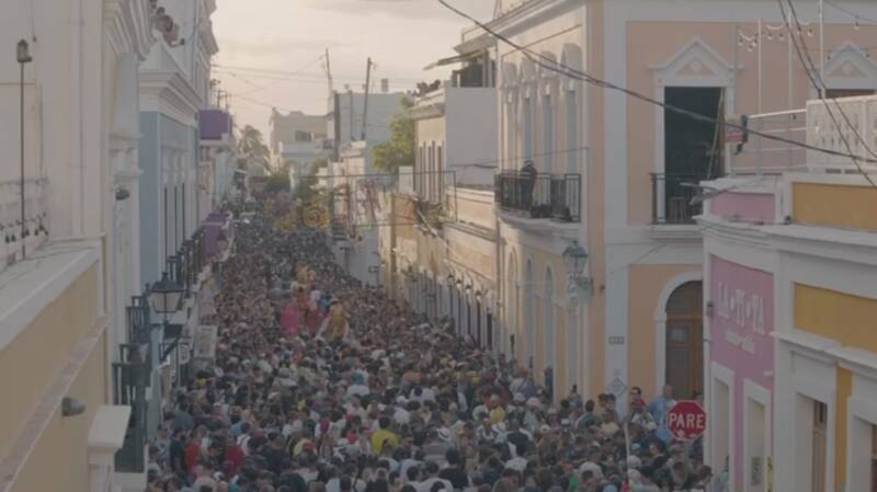
[[[0,388],[14,388],[14,398],[2,402],[0,456],[9,454],[72,352],[96,327],[99,274],[96,265],[89,267],[0,352]],[[105,336],[94,344],[65,393],[84,401],[87,411],[62,419],[60,408],[55,409],[12,492],[89,490],[88,433],[98,408],[106,403],[110,377]],[[22,375],[26,375],[26,384],[22,384]]]

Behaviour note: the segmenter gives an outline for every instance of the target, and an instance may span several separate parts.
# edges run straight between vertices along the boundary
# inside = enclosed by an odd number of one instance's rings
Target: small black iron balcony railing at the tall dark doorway
[[[692,205],[697,188],[685,184],[697,184],[703,176],[695,174],[651,174],[651,224],[694,225],[702,205]]]

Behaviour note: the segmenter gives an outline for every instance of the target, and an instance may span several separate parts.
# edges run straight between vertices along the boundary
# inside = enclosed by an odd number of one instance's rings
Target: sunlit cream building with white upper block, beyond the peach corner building
[[[394,295],[499,353],[493,48],[490,36],[468,33],[456,56],[437,62],[460,64],[451,79],[417,95],[415,163],[400,171],[380,252]]]

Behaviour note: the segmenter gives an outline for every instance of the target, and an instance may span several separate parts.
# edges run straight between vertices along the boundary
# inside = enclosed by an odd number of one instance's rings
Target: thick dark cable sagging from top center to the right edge
[[[810,145],[810,144],[796,141],[796,140],[791,140],[791,139],[784,138],[784,137],[778,137],[776,135],[766,134],[766,133],[762,133],[762,131],[758,131],[758,130],[748,128],[748,127],[745,127],[743,125],[740,125],[740,124],[737,124],[737,123],[728,122],[728,121],[726,121],[724,118],[722,119],[718,119],[718,118],[714,118],[714,117],[709,117],[709,116],[704,116],[704,115],[702,115],[699,113],[696,113],[696,112],[693,112],[693,111],[688,111],[688,110],[685,110],[685,108],[682,108],[682,107],[679,107],[679,106],[674,106],[672,104],[667,104],[664,102],[658,101],[658,100],[656,100],[653,98],[650,98],[648,95],[641,94],[641,93],[636,92],[634,90],[630,90],[630,89],[614,84],[612,82],[607,82],[605,80],[599,79],[599,78],[593,77],[593,76],[591,76],[591,75],[589,75],[589,73],[586,73],[584,71],[573,69],[573,68],[571,68],[571,67],[569,67],[567,65],[563,65],[563,64],[558,62],[558,61],[556,61],[556,60],[554,60],[551,58],[548,58],[545,55],[542,55],[539,53],[533,52],[533,50],[531,50],[531,49],[528,49],[528,48],[526,48],[524,46],[521,46],[521,45],[514,43],[513,41],[509,39],[508,37],[497,33],[496,31],[491,30],[490,27],[488,27],[487,25],[485,25],[482,22],[478,21],[474,16],[471,16],[471,15],[467,14],[466,12],[463,12],[462,10],[451,5],[449,3],[447,3],[446,0],[436,0],[436,1],[438,3],[441,3],[442,5],[444,5],[446,9],[448,9],[452,12],[456,13],[457,15],[460,15],[460,16],[469,20],[470,22],[474,22],[477,26],[479,26],[481,30],[483,30],[486,33],[490,34],[491,36],[502,41],[503,43],[508,44],[509,46],[511,46],[511,47],[515,48],[516,50],[523,53],[524,56],[527,57],[527,59],[529,59],[534,64],[538,65],[539,67],[545,68],[546,70],[551,70],[551,71],[555,71],[557,73],[563,75],[566,77],[569,77],[571,79],[576,79],[576,80],[581,80],[581,81],[588,82],[588,83],[590,83],[592,85],[596,85],[596,87],[600,87],[600,88],[612,89],[612,90],[615,90],[615,91],[623,92],[623,93],[625,93],[625,94],[627,94],[627,95],[629,95],[631,98],[638,99],[640,101],[645,101],[645,102],[647,102],[649,104],[652,104],[652,105],[656,105],[656,106],[659,106],[659,107],[663,107],[664,110],[672,111],[674,113],[679,113],[679,114],[688,116],[690,118],[698,121],[698,122],[709,123],[709,124],[714,124],[714,125],[715,124],[726,125],[728,127],[738,128],[740,130],[748,131],[751,135],[756,135],[756,136],[760,136],[760,137],[768,139],[768,140],[774,140],[774,141],[779,141],[779,142],[793,145],[793,146],[796,146],[796,147],[800,147],[800,148],[804,148],[804,149],[807,149],[807,150],[812,150],[812,151],[825,153],[825,155],[829,155],[829,156],[845,157],[845,158],[850,158],[850,159],[854,159],[854,160],[858,159],[858,160],[861,160],[863,162],[877,163],[877,160],[875,160],[875,159],[865,158],[865,157],[861,157],[861,156],[854,156],[853,153],[845,153],[845,152],[841,152],[841,151],[833,150],[833,149],[827,149],[827,148],[817,147],[817,146],[813,146],[813,145]],[[547,60],[547,62],[546,61],[540,61],[538,59],[535,59],[534,57],[538,57],[538,58],[545,59],[545,60]]]

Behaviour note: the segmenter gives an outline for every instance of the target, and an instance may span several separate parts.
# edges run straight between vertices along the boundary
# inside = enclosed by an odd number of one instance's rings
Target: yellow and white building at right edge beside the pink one
[[[779,252],[774,490],[870,491],[877,483],[877,187],[861,175],[785,181],[790,224],[770,228]]]

